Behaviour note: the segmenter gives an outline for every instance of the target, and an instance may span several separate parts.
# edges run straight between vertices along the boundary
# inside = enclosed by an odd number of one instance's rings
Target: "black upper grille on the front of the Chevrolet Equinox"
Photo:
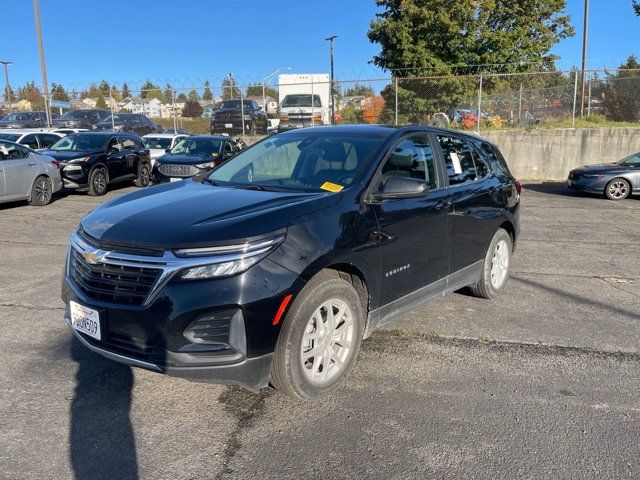
[[[155,285],[161,270],[147,267],[88,263],[71,249],[69,275],[88,297],[109,303],[142,305]]]

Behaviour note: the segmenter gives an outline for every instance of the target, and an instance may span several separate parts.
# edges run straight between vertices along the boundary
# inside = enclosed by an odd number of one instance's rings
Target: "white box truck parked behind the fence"
[[[278,131],[329,125],[330,92],[328,73],[278,75]]]

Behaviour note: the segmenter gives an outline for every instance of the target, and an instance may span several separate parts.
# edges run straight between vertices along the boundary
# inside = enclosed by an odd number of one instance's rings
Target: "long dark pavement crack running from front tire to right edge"
[[[552,356],[587,356],[590,358],[601,358],[607,360],[640,362],[640,352],[625,352],[621,350],[598,350],[589,347],[575,347],[571,345],[516,342],[508,340],[493,340],[488,337],[453,337],[431,333],[409,333],[402,329],[379,330],[370,339],[384,337],[385,340],[393,339],[421,339],[428,343],[446,345],[452,347],[478,348],[485,347],[498,352],[519,351],[535,355]],[[369,341],[368,341],[369,342]],[[367,343],[369,344],[369,343]],[[375,342],[373,342],[375,345]]]

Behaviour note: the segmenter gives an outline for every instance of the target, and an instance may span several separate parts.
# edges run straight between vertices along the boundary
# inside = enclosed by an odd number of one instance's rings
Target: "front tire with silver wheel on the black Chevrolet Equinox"
[[[364,331],[364,310],[351,283],[323,270],[298,294],[282,326],[272,385],[297,400],[337,389],[355,365]]]

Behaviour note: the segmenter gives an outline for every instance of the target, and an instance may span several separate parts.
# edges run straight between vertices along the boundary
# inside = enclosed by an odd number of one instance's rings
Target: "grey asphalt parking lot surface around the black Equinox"
[[[406,315],[304,403],[72,340],[68,238],[104,199],[0,206],[0,478],[640,478],[640,200],[527,185],[502,297]]]

